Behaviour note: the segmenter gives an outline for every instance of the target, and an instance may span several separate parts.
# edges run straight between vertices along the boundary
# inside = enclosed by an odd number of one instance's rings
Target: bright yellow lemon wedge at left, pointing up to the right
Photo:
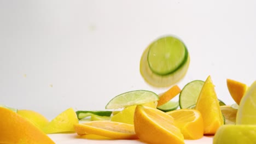
[[[74,132],[74,124],[78,123],[75,111],[69,108],[57,115],[51,122],[43,128],[44,133],[72,133]]]

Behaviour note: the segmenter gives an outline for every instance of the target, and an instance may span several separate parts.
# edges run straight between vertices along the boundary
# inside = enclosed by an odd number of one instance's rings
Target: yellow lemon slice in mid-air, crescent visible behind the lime
[[[143,77],[143,79],[151,86],[154,87],[170,87],[174,85],[175,83],[181,81],[185,74],[188,71],[189,63],[190,63],[190,57],[188,53],[187,61],[184,62],[178,69],[175,71],[172,71],[171,74],[168,75],[159,75],[153,73],[153,71],[149,68],[148,64],[148,52],[149,47],[143,52],[141,57],[141,62],[139,65],[140,73]]]

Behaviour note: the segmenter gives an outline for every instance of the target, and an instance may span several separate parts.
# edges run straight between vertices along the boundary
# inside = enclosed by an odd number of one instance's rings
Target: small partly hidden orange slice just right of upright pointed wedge
[[[230,105],[220,106],[223,116],[225,117],[225,124],[236,124],[237,109]]]

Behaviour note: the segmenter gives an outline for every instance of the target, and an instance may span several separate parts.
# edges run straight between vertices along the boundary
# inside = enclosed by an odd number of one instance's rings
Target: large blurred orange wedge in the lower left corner
[[[0,107],[0,143],[54,143],[28,119]]]

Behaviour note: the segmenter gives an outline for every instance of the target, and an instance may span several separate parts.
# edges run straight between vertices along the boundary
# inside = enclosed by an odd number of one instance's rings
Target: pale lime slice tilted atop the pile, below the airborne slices
[[[131,105],[143,105],[158,100],[158,94],[151,91],[130,91],[114,97],[108,102],[106,109],[120,109]]]

